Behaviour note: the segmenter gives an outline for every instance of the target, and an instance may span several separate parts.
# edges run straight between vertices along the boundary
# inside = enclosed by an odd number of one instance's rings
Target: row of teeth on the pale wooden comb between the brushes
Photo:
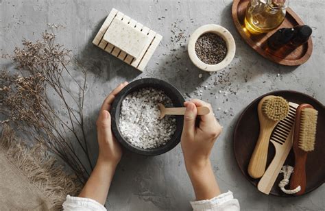
[[[276,129],[274,129],[271,140],[277,142],[280,145],[283,145],[290,134],[293,124],[295,123],[295,117],[296,108],[294,108],[292,105],[289,105],[289,112],[287,116],[285,119],[279,121],[278,125],[276,125]]]

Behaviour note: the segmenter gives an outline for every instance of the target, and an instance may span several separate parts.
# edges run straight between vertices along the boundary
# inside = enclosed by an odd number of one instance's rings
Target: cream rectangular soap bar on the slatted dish
[[[122,51],[125,51],[135,60],[140,59],[141,52],[149,42],[147,34],[136,30],[128,23],[117,18],[112,21],[103,39]]]

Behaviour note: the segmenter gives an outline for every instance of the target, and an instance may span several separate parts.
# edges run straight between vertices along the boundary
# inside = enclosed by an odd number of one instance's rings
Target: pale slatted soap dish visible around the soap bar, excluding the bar
[[[138,58],[134,58],[134,56],[130,55],[126,51],[121,50],[119,46],[112,45],[110,42],[107,42],[105,40],[104,37],[109,36],[106,34],[106,32],[108,31],[108,28],[110,27],[112,21],[115,20],[115,18],[117,18],[119,21],[122,21],[126,26],[131,27],[131,30],[136,29],[145,35],[146,41],[143,44],[143,49],[140,49],[139,51],[140,53]],[[137,23],[137,21],[134,21],[129,16],[113,8],[110,11],[110,14],[108,14],[106,20],[104,21],[104,24],[99,29],[99,32],[95,36],[93,44],[103,49],[104,51],[116,56],[120,60],[123,60],[123,62],[134,66],[139,71],[143,71],[145,69],[145,66],[147,66],[147,63],[149,62],[149,59],[154,54],[154,51],[158,47],[159,42],[160,40],[162,40],[162,38],[163,36],[161,36],[160,34],[157,34],[151,29],[143,26],[141,23]]]

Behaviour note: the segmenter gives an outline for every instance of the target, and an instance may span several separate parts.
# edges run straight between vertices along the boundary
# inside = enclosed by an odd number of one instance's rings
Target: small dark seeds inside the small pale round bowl
[[[203,34],[195,42],[195,53],[206,64],[218,64],[226,58],[226,41],[214,33]]]

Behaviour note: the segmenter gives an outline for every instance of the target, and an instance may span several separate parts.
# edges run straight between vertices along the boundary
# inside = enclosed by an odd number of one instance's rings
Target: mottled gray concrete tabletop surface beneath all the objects
[[[12,53],[21,38],[35,40],[47,23],[62,24],[52,29],[58,42],[73,50],[88,72],[86,121],[92,141],[93,162],[97,157],[95,119],[104,97],[124,81],[157,77],[189,93],[198,86],[203,100],[214,108],[224,132],[217,140],[211,160],[221,190],[232,190],[241,210],[324,210],[325,186],[303,197],[278,198],[259,193],[243,177],[232,152],[232,132],[239,114],[256,97],[272,90],[296,90],[325,103],[325,1],[291,1],[305,23],[313,27],[313,55],[298,67],[280,66],[255,53],[236,32],[230,15],[232,1],[23,1],[0,0],[0,49]],[[163,35],[147,69],[139,73],[91,44],[112,8]],[[195,68],[186,53],[188,36],[201,25],[215,23],[234,36],[237,51],[226,69],[209,75]],[[184,38],[171,38],[184,33]],[[173,40],[173,41],[172,41]],[[8,60],[1,66],[12,68]],[[203,77],[198,75],[202,73]],[[213,82],[217,80],[217,84]],[[219,93],[221,90],[221,93]],[[226,96],[224,92],[226,91]],[[234,94],[236,92],[236,94]],[[210,95],[213,93],[213,95]],[[217,99],[215,98],[217,95]],[[220,108],[220,110],[217,110]],[[143,158],[125,153],[112,182],[106,206],[109,210],[190,210],[194,199],[186,175],[180,145],[162,156]]]

